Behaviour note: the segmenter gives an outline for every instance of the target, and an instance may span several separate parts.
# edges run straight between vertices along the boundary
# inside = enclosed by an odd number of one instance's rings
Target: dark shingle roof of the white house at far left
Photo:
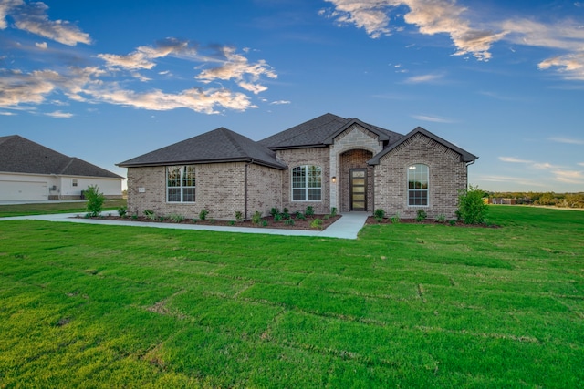
[[[0,171],[122,179],[111,171],[18,135],[0,137]]]

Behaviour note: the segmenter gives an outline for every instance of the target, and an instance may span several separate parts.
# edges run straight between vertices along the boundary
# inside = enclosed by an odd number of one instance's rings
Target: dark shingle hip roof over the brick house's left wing
[[[274,151],[227,128],[217,128],[197,137],[159,148],[140,157],[120,162],[118,166],[128,168],[175,163],[237,161],[254,161],[276,169],[287,169],[286,165],[277,161]]]

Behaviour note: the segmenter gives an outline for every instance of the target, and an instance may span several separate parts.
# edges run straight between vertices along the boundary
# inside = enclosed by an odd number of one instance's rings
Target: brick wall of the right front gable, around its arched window
[[[429,167],[429,205],[408,206],[407,171],[412,164]],[[460,155],[440,143],[416,134],[398,148],[383,156],[374,168],[375,204],[389,216],[399,212],[401,218],[415,218],[416,211],[425,210],[429,218],[444,214],[454,218],[458,206],[458,190],[466,188],[466,164]]]

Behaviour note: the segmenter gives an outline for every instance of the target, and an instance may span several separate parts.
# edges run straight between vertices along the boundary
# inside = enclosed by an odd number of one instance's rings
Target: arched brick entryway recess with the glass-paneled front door
[[[352,149],[339,157],[340,211],[370,211],[373,204],[373,167],[368,166],[367,161],[373,158],[373,153]]]

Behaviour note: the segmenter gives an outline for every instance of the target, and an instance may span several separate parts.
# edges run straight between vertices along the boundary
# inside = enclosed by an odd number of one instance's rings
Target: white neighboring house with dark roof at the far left
[[[18,135],[0,137],[0,200],[80,200],[89,185],[121,198],[123,179]]]

